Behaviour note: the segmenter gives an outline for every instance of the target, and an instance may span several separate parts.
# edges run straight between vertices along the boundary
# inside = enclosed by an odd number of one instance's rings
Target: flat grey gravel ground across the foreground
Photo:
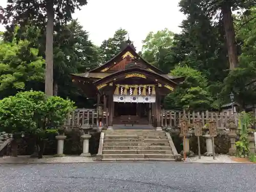
[[[2,164],[0,170],[1,192],[256,190],[253,164]]]

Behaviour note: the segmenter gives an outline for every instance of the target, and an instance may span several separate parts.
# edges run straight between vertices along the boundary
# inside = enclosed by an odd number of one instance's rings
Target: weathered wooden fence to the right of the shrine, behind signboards
[[[181,117],[185,114],[186,118],[191,124],[194,124],[196,119],[202,119],[203,124],[206,124],[208,120],[214,120],[217,122],[217,127],[226,127],[228,119],[231,117],[232,111],[228,112],[185,112],[185,111],[161,111],[161,125],[163,127],[176,127],[180,124]],[[234,113],[234,119],[236,124],[238,123],[238,114]]]

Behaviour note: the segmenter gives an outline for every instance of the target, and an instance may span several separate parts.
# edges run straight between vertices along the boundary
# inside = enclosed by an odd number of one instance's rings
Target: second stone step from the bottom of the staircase
[[[103,150],[102,154],[162,154],[173,155],[172,151],[156,151],[156,150]]]

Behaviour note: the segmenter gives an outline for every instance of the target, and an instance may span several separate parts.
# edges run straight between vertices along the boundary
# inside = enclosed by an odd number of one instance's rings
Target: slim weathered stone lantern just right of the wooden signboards
[[[230,138],[230,148],[228,150],[229,155],[236,155],[236,138],[238,126],[235,123],[234,115],[232,114],[228,120],[227,128],[229,129],[228,136]]]

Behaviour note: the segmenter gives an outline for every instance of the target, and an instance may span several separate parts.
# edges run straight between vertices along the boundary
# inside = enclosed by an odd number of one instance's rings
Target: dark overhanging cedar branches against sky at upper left
[[[7,26],[6,39],[23,38],[28,25],[39,30],[41,34],[46,31],[48,0],[14,0],[8,1],[7,7],[0,9],[0,17]],[[54,30],[67,24],[72,19],[75,9],[87,4],[87,0],[53,1]],[[15,26],[20,26],[17,34],[13,32]]]

